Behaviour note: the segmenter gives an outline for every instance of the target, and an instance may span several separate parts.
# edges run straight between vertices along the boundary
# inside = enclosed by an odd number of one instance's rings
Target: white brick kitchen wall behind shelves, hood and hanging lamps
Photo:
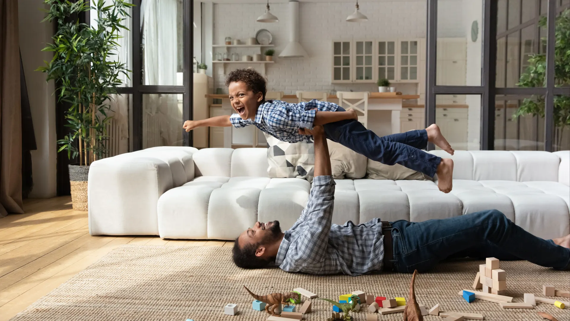
[[[465,37],[462,22],[462,2],[439,1],[438,37]],[[425,38],[425,1],[382,1],[364,2],[360,10],[367,15],[368,22],[351,23],[345,19],[354,10],[353,2],[311,3],[300,2],[299,41],[309,58],[279,58],[279,53],[288,43],[288,4],[271,3],[271,13],[279,18],[277,23],[260,23],[255,19],[264,12],[264,5],[214,4],[213,43],[223,43],[225,37],[247,39],[254,37],[259,29],[267,29],[273,35],[275,63],[266,65],[268,90],[294,94],[297,90],[316,91],[377,91],[375,84],[337,85],[331,84],[331,41],[333,39],[389,39]],[[216,49],[220,50],[220,49]],[[231,49],[234,50],[235,49]],[[255,49],[239,49],[242,54],[254,54]],[[206,52],[210,48],[206,48]],[[215,51],[214,51],[215,52]],[[245,65],[227,65],[226,71]],[[222,88],[225,73],[221,64],[213,69],[214,90]],[[415,94],[417,85],[398,84],[398,91]]]

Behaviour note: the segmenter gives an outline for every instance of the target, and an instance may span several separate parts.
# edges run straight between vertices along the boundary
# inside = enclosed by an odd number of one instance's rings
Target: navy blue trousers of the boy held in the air
[[[345,110],[339,107],[337,111]],[[441,157],[422,151],[427,146],[425,129],[378,137],[353,119],[328,123],[323,127],[331,141],[386,165],[401,164],[433,177],[441,162]]]

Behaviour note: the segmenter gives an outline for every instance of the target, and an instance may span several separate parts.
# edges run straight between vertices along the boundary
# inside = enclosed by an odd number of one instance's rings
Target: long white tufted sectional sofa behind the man
[[[89,232],[229,240],[257,220],[279,220],[286,230],[311,184],[268,178],[266,153],[154,147],[97,160],[89,170]],[[430,180],[337,179],[333,223],[417,222],[497,209],[542,238],[570,232],[570,151],[456,151],[451,158],[449,194]]]

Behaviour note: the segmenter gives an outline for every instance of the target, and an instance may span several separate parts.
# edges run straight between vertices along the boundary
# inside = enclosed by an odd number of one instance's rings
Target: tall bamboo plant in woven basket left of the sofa
[[[77,165],[69,165],[71,200],[74,210],[87,210],[87,176],[89,164],[106,154],[105,125],[108,104],[112,94],[121,85],[119,75],[127,75],[124,63],[116,61],[119,31],[127,29],[122,23],[129,16],[128,0],[67,1],[44,0],[50,5],[43,21],[56,22],[57,31],[43,51],[52,51],[54,58],[37,70],[47,74],[47,81],[56,83],[60,102],[68,104],[66,111],[70,133],[58,141],[58,151],[67,151],[67,157]],[[78,15],[97,10],[96,25],[79,23]]]

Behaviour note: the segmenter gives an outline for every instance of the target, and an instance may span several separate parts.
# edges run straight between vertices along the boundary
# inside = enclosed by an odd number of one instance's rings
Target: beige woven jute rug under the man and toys
[[[482,300],[467,303],[458,291],[471,288],[479,264],[483,263],[450,261],[419,274],[418,303],[428,309],[439,303],[442,311],[481,313],[486,320],[544,320],[536,311],[545,311],[560,321],[570,320],[570,308],[560,310],[551,304],[538,303],[534,310],[503,310],[497,303]],[[500,266],[507,271],[508,295],[514,296],[515,302],[523,302],[524,292],[542,296],[545,283],[561,290],[570,287],[568,271],[523,261],[503,261]],[[242,270],[231,261],[231,248],[127,245],[109,252],[11,321],[266,320],[266,312],[251,308],[253,298],[243,289],[244,284],[259,295],[302,287],[320,298],[338,299],[341,294],[361,290],[407,299],[410,278],[409,274],[396,273],[353,277],[296,274],[278,268]],[[227,303],[238,304],[238,315],[223,314]],[[366,307],[360,313],[351,313],[355,320],[366,320]],[[299,309],[300,304],[296,311]],[[330,303],[312,299],[312,312],[305,314],[304,319],[323,321],[331,312]],[[376,315],[378,320],[403,318],[401,313]],[[424,319],[442,320],[431,315]]]

